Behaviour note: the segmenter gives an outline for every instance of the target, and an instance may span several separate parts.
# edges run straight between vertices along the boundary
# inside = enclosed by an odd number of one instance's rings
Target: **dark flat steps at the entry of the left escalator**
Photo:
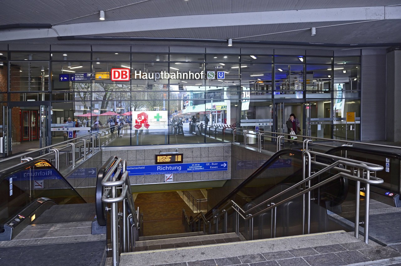
[[[74,206],[69,206],[74,205]],[[43,212],[32,224],[56,224],[62,222],[92,221],[95,217],[94,204],[55,205]]]

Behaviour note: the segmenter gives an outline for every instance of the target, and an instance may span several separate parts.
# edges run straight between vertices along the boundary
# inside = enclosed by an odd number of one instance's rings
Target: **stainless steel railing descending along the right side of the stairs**
[[[314,156],[312,158],[312,155]],[[324,164],[321,162],[317,162],[316,158],[329,158],[334,160],[334,163],[332,164]],[[313,160],[312,160],[313,159]],[[256,206],[253,206],[249,208],[248,210],[243,210],[241,207],[234,201],[229,201],[227,204],[224,206],[220,207],[218,210],[214,210],[213,217],[209,220],[206,218],[200,219],[198,217],[202,217],[203,214],[198,214],[196,216],[197,218],[194,218],[192,221],[189,221],[188,228],[192,228],[191,223],[204,223],[204,232],[205,228],[207,227],[207,224],[209,226],[209,232],[211,232],[211,226],[210,224],[214,223],[216,228],[215,228],[215,233],[218,233],[218,228],[219,228],[219,218],[222,218],[223,220],[223,226],[222,226],[222,231],[227,232],[227,213],[229,210],[233,210],[235,213],[235,232],[237,235],[239,234],[239,218],[242,218],[243,221],[248,222],[249,224],[249,240],[253,240],[253,219],[254,217],[258,217],[259,215],[265,214],[267,212],[271,212],[271,237],[275,237],[275,232],[276,232],[276,210],[277,207],[289,202],[290,200],[297,198],[299,196],[302,196],[302,234],[309,234],[310,233],[310,216],[311,216],[311,207],[310,207],[310,201],[311,199],[311,194],[310,192],[320,188],[321,186],[324,186],[325,184],[328,184],[332,182],[333,180],[336,180],[340,177],[348,178],[350,180],[354,180],[356,182],[356,188],[355,188],[355,201],[356,201],[356,206],[355,206],[355,227],[354,227],[354,236],[358,238],[359,236],[359,220],[360,220],[360,215],[359,215],[359,201],[360,201],[360,183],[365,183],[365,220],[363,222],[365,228],[364,228],[364,242],[368,243],[369,241],[369,200],[370,200],[370,185],[371,184],[382,184],[383,180],[380,178],[376,178],[370,175],[371,172],[376,172],[376,171],[381,171],[383,170],[383,166],[378,165],[378,164],[371,164],[367,162],[361,162],[357,160],[352,160],[352,159],[347,159],[347,158],[342,158],[338,156],[332,156],[328,154],[323,154],[319,152],[312,152],[305,150],[302,153],[302,161],[303,161],[303,176],[302,176],[302,181],[298,182],[297,184],[294,184],[293,186],[290,186],[286,190],[283,190],[282,192],[276,194],[275,196],[272,196],[268,198],[267,200],[264,200],[263,202],[257,204]],[[319,170],[318,172],[312,174],[312,169],[311,166],[313,164],[316,164],[320,167],[324,167],[322,170]],[[342,166],[348,166],[350,168],[353,168],[352,171],[344,169],[339,167],[340,165]],[[316,183],[315,185],[311,186],[311,180],[316,180],[321,174],[328,172],[331,169],[335,169],[338,171],[338,174],[334,174],[333,176],[330,176],[326,178],[323,181],[320,181]],[[290,192],[293,189],[299,189],[302,188],[300,192],[296,193],[295,195],[292,195],[284,200],[281,200],[279,202],[274,202],[279,198],[280,196],[284,195],[287,192]],[[204,217],[204,216],[203,216]],[[201,226],[199,226],[201,228]]]

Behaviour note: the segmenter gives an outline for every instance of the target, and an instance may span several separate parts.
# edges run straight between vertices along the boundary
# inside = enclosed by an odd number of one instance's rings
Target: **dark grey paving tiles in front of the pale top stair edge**
[[[364,242],[352,242],[157,266],[337,266],[401,256],[396,249],[399,246],[372,248]]]

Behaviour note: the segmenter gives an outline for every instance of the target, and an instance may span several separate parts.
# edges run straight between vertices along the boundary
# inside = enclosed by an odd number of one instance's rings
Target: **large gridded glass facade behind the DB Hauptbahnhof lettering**
[[[124,121],[111,146],[220,142],[191,134],[191,120],[287,133],[291,113],[305,136],[360,139],[359,56],[0,52],[13,142],[39,134],[42,146],[61,142],[52,124],[68,117],[89,131]],[[111,81],[112,68],[129,69],[130,80]],[[351,126],[347,112],[355,112]]]

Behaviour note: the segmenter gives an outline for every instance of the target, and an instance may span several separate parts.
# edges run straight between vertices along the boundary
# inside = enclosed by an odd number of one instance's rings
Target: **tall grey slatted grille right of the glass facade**
[[[362,73],[362,140],[384,140],[386,55],[362,56]]]

